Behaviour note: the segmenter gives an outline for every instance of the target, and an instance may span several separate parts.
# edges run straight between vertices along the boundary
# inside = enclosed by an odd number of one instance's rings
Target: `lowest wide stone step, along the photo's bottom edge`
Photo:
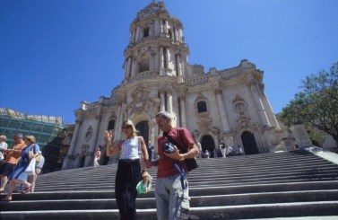
[[[250,219],[292,216],[338,216],[338,201],[295,202],[227,207],[192,207],[190,214],[199,219]],[[118,219],[118,210],[48,210],[1,212],[2,220],[111,220]],[[156,209],[137,209],[139,220],[155,220]]]

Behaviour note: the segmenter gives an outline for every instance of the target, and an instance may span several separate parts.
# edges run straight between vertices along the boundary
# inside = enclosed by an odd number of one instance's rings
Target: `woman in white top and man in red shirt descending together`
[[[186,128],[174,128],[171,120],[168,111],[160,111],[156,115],[156,123],[164,134],[158,139],[159,159],[156,161],[149,160],[143,137],[137,136],[137,130],[131,120],[123,122],[123,140],[112,143],[114,136],[111,131],[106,131],[107,155],[120,153],[115,193],[121,220],[136,219],[136,185],[149,175],[146,169],[152,166],[158,167],[155,187],[158,219],[188,219],[190,198],[185,160],[195,158],[200,152],[190,132]],[[170,140],[177,145],[174,151],[168,152],[164,146],[171,143]],[[186,153],[180,152],[178,145],[184,146]]]

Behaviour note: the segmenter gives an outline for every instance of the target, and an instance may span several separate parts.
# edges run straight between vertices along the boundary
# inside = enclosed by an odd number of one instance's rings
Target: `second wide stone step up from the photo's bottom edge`
[[[256,205],[270,203],[338,201],[338,189],[303,190],[288,192],[241,193],[191,197],[191,207],[216,207],[233,205]],[[74,208],[76,207],[76,208]],[[155,198],[137,198],[136,207],[148,209],[156,207]],[[2,211],[29,210],[72,210],[72,209],[117,209],[115,198],[27,200],[2,204]]]

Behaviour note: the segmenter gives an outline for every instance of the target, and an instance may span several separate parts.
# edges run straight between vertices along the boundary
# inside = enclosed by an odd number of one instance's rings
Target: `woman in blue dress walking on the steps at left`
[[[25,171],[30,165],[30,161],[32,160],[32,158],[30,158],[30,151],[33,151],[33,158],[39,156],[39,145],[35,144],[36,140],[34,136],[25,136],[24,143],[26,147],[22,149],[21,158],[15,166],[12,174],[8,177],[8,194],[3,199],[3,201],[12,201],[12,194],[15,188],[15,184],[23,184],[26,187],[24,192],[30,192],[31,184],[27,181],[28,174],[25,173]]]

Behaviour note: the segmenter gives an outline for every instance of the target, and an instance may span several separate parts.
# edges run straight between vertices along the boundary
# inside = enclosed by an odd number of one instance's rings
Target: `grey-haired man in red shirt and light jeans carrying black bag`
[[[151,163],[158,166],[155,196],[158,219],[186,219],[190,208],[187,187],[187,169],[185,159],[195,158],[200,151],[186,128],[173,128],[171,114],[160,111],[156,115],[156,123],[165,134],[158,139],[159,160]],[[169,138],[167,137],[169,136]],[[171,153],[164,152],[169,139],[180,147],[186,147],[186,153],[180,154],[174,146]],[[167,152],[167,148],[165,149]]]

